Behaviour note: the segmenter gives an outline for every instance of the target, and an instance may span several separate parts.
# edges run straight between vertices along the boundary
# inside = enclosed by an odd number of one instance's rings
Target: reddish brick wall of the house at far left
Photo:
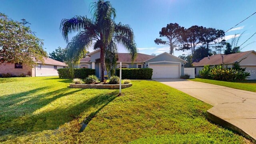
[[[30,72],[30,74],[32,74],[32,68],[29,68],[24,64],[23,64],[22,68],[15,68],[15,65],[10,62],[0,64],[0,74],[10,73],[10,74],[12,74],[12,76],[18,76],[22,73],[27,75],[28,72]]]

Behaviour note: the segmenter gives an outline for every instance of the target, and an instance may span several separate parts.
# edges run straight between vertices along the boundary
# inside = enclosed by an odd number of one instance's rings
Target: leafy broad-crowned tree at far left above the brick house
[[[25,19],[14,21],[0,13],[0,64],[4,62],[22,63],[33,67],[36,61],[44,62],[47,53],[43,40],[30,30]]]

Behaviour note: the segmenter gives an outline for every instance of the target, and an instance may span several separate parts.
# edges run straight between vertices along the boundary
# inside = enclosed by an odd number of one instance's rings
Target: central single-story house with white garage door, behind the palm
[[[116,68],[153,68],[152,78],[179,78],[184,74],[185,60],[164,52],[158,56],[138,53],[136,60],[132,64],[129,53],[118,53]],[[100,77],[100,50],[88,54],[86,58],[80,60],[79,68],[92,68],[96,70],[96,76]],[[104,75],[107,75],[106,68]]]

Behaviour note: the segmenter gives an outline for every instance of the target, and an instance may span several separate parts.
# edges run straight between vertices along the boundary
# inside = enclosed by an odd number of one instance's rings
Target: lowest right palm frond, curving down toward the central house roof
[[[134,62],[138,53],[134,40],[130,40],[126,36],[114,36],[114,40],[126,48],[126,50],[131,54],[132,62]]]

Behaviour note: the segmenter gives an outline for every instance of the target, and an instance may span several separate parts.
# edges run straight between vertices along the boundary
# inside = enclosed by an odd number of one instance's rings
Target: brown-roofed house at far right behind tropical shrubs
[[[195,68],[195,74],[199,75],[199,71],[204,66],[216,66],[222,65],[224,67],[232,68],[235,63],[239,63],[241,68],[246,68],[247,72],[250,72],[248,80],[256,79],[256,52],[250,50],[247,52],[240,52],[235,54],[215,54],[213,56],[194,60],[192,66]]]

